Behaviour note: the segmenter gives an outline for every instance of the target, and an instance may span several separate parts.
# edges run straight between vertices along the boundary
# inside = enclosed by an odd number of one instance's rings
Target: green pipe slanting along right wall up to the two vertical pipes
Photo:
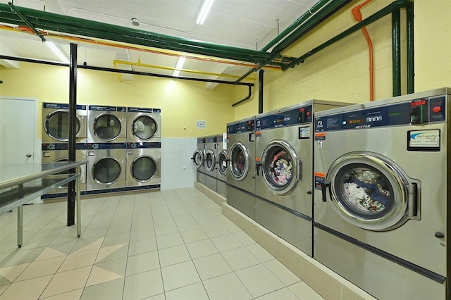
[[[360,30],[363,26],[369,25],[373,23],[374,21],[384,17],[385,15],[388,15],[389,13],[392,13],[393,11],[400,9],[402,7],[406,7],[412,4],[412,0],[397,0],[388,6],[385,6],[381,9],[381,11],[378,11],[374,13],[373,15],[370,15],[368,18],[365,18],[362,20],[362,22],[359,22],[352,27],[348,28],[347,30],[341,32],[339,35],[336,35],[332,39],[329,39],[328,41],[324,42],[323,44],[316,46],[316,48],[311,49],[311,51],[307,52],[306,54],[299,56],[291,63],[288,63],[286,65],[282,65],[282,70],[287,70],[288,68],[292,68],[295,65],[304,62],[306,58],[309,58],[310,56],[318,53],[319,51],[325,49],[326,47],[330,46],[331,44],[334,44],[335,42],[340,41],[340,39],[343,39],[347,37],[348,35],[351,35],[352,33],[356,32],[357,30]]]

